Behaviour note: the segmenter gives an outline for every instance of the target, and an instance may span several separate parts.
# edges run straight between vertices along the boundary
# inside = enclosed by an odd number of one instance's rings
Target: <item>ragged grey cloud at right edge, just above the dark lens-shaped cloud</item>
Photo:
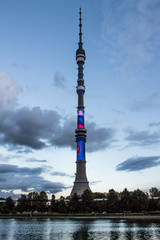
[[[127,133],[125,140],[135,146],[148,146],[160,143],[159,132],[137,131],[134,129],[126,129],[125,132]]]

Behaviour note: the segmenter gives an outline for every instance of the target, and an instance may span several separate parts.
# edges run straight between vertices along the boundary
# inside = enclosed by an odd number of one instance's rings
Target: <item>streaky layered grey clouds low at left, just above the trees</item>
[[[67,187],[60,182],[51,182],[44,179],[41,173],[46,171],[43,168],[18,167],[17,165],[0,164],[0,190],[8,192],[21,191],[46,191],[47,193],[57,193]]]

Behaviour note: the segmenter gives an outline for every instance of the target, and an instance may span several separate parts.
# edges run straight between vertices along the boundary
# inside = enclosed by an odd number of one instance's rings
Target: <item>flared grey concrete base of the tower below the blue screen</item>
[[[77,161],[76,163],[77,163],[77,173],[76,173],[76,179],[71,191],[71,196],[73,196],[75,193],[77,193],[77,195],[80,196],[83,194],[83,192],[86,189],[90,190],[89,182],[86,176],[86,162]]]

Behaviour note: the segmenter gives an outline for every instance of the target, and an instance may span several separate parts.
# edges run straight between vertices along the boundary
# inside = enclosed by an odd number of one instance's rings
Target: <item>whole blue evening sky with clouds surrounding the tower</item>
[[[80,7],[90,188],[160,188],[159,0],[0,0],[0,197],[70,195]]]

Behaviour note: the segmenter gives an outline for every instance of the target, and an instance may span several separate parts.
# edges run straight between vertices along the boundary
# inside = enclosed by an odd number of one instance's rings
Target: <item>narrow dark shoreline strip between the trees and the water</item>
[[[110,219],[110,220],[160,220],[160,215],[129,215],[129,216],[74,216],[74,215],[0,215],[0,219],[70,219],[70,220],[98,220],[98,219]]]

